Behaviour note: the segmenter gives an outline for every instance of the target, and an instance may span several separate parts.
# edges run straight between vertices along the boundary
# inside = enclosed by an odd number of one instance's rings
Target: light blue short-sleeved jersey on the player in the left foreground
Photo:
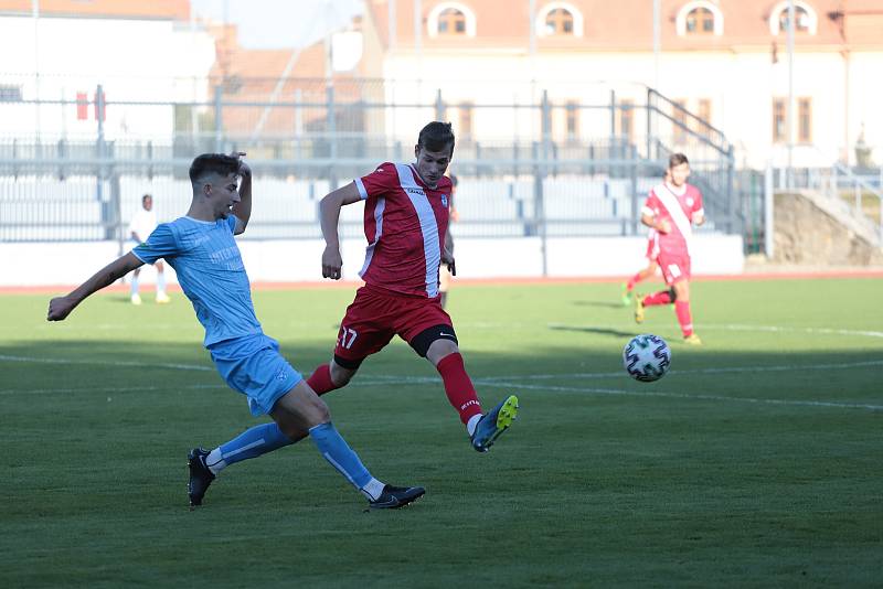
[[[233,238],[236,217],[216,222],[179,217],[160,224],[147,242],[131,250],[146,264],[164,258],[193,303],[205,347],[263,333],[252,304],[248,275]]]

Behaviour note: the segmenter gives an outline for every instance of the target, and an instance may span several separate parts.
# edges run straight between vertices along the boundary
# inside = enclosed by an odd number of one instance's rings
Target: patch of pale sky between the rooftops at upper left
[[[246,49],[311,45],[364,10],[362,0],[191,0],[196,17],[238,25]]]

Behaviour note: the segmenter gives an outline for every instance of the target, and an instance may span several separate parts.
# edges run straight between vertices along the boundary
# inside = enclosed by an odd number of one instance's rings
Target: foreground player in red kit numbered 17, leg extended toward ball
[[[382,163],[322,199],[322,276],[333,280],[340,279],[343,265],[340,210],[365,203],[368,249],[360,271],[365,286],[347,308],[332,360],[316,368],[307,383],[320,395],[347,385],[365,357],[398,335],[436,367],[472,447],[487,452],[514,420],[518,398],[510,395],[482,414],[454,324],[440,304],[439,266],[445,264],[456,275],[454,257],[445,248],[453,193],[445,171],[454,143],[450,124],[430,122],[414,146],[414,163]]]

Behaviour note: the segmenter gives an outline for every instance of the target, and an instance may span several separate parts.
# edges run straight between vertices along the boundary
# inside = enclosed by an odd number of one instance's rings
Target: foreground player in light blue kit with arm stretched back
[[[190,505],[202,504],[222,469],[289,446],[307,436],[322,457],[365,495],[374,508],[407,505],[424,494],[374,479],[331,424],[328,406],[264,334],[252,304],[251,285],[234,235],[252,214],[252,172],[234,156],[203,153],[190,167],[193,201],[185,216],[160,224],[130,253],[110,263],[65,297],[49,303],[49,321],[62,321],[89,294],[159,259],[174,268],[178,281],[205,328],[204,345],[217,372],[248,398],[254,416],[272,422],[246,430],[211,452],[194,448],[188,457]],[[241,185],[240,185],[241,181]]]

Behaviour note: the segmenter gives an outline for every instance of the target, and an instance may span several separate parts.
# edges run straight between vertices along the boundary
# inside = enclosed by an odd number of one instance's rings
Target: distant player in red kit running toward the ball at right
[[[693,240],[692,225],[702,225],[705,213],[702,193],[688,184],[690,162],[683,153],[669,158],[670,179],[662,182],[647,197],[641,210],[641,223],[656,229],[659,238],[659,267],[670,287],[641,298],[635,298],[635,321],[643,322],[645,307],[674,303],[674,314],[681,325],[683,341],[700,345],[702,340],[693,332],[690,314],[690,255]]]

